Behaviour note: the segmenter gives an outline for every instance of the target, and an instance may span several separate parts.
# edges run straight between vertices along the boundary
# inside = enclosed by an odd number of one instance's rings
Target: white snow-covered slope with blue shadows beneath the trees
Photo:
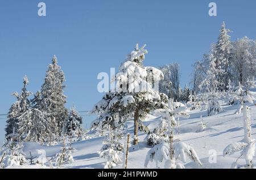
[[[252,89],[255,92],[255,89]],[[246,103],[250,108],[251,119],[251,139],[255,139],[256,134],[256,106]],[[240,157],[239,153],[234,153],[230,156],[223,156],[225,148],[228,144],[234,142],[241,142],[244,134],[243,130],[243,115],[236,114],[240,105],[222,105],[223,111],[212,116],[207,115],[207,110],[191,110],[189,118],[180,118],[180,134],[177,135],[177,129],[174,128],[174,143],[181,142],[186,143],[195,149],[197,152],[198,160],[200,164],[195,164],[192,160],[185,158],[184,168],[231,168],[234,162],[237,164],[246,164],[245,158]],[[204,131],[196,132],[201,123],[201,115],[206,125]],[[154,128],[159,127],[162,121],[161,117],[154,117],[148,115],[143,121],[143,124],[148,127],[149,131],[153,131]],[[123,136],[127,136],[127,133],[133,134],[133,121],[126,122],[125,130],[122,130]],[[108,139],[108,135],[99,136],[98,134],[90,134],[90,139],[81,140],[79,142],[73,142],[72,147],[76,151],[72,152],[73,162],[69,164],[63,164],[61,168],[85,168],[85,169],[101,169],[105,166],[105,159],[100,158],[98,151],[102,147],[102,142]],[[144,168],[144,162],[147,159],[146,155],[151,151],[151,146],[146,144],[144,140],[147,136],[146,132],[139,131],[139,143],[138,145],[132,145],[129,143],[129,154],[127,156],[127,168]],[[124,143],[125,139],[121,140]],[[246,142],[245,142],[246,143]],[[244,144],[245,144],[244,143]],[[60,149],[63,146],[60,145],[39,145],[37,143],[27,142],[24,143],[23,153],[25,157],[32,156],[41,158],[40,153],[46,154],[45,163],[32,164],[26,163],[22,166],[13,165],[10,168],[57,168],[52,158],[57,153],[60,153]],[[67,141],[67,147],[68,147]],[[168,146],[167,146],[168,149]],[[238,158],[240,157],[240,158]],[[253,157],[253,156],[251,156]],[[122,155],[119,155],[122,161]],[[184,157],[181,157],[184,158]],[[179,161],[179,160],[178,160]],[[180,163],[181,161],[179,161]],[[252,163],[256,162],[256,158],[253,157]],[[164,163],[159,163],[159,168],[165,168]],[[114,168],[122,168],[122,163],[117,164]],[[146,168],[155,168],[153,162],[148,162]]]

